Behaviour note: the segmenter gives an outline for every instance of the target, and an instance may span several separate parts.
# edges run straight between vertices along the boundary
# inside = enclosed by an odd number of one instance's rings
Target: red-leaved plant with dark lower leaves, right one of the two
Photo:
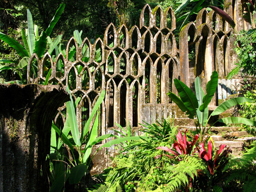
[[[228,154],[232,153],[231,149],[224,148],[226,147],[225,144],[221,144],[219,150],[216,151],[214,157],[212,157],[212,143],[211,140],[208,141],[207,144],[207,152],[204,148],[204,143],[199,144],[199,157],[202,158],[208,166],[210,174],[213,176],[215,170],[219,167],[224,167],[228,162]],[[213,159],[212,159],[213,158]]]

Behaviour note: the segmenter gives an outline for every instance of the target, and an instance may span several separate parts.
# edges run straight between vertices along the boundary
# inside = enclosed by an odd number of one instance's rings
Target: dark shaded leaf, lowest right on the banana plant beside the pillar
[[[82,163],[72,167],[70,169],[69,183],[70,184],[79,183],[79,181],[82,179],[82,176],[86,175],[87,169],[88,169],[88,165],[86,163]]]

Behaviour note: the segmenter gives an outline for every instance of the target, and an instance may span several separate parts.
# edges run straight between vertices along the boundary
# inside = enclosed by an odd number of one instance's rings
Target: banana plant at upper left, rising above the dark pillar
[[[30,56],[33,53],[36,53],[39,58],[41,58],[47,48],[47,36],[50,36],[52,33],[52,30],[56,23],[58,22],[63,10],[65,8],[65,4],[60,4],[59,8],[57,9],[54,17],[51,20],[50,25],[48,26],[46,31],[42,31],[40,36],[38,35],[38,27],[36,25],[33,25],[33,19],[30,10],[27,10],[27,18],[28,18],[28,29],[25,31],[22,29],[22,39],[23,39],[23,45],[19,44],[19,42],[8,35],[0,32],[0,39],[5,41],[10,47],[16,50],[17,54],[22,57],[22,59],[17,61],[11,61],[8,59],[0,59],[0,62],[3,63],[16,63],[17,67],[8,66],[9,68],[1,68],[0,72],[12,69],[14,72],[18,72],[20,79],[22,79],[23,82],[25,82],[25,79],[23,77],[24,74],[26,74],[26,67],[28,65],[28,61]],[[37,67],[32,66],[32,71],[34,72],[34,75],[36,76]]]

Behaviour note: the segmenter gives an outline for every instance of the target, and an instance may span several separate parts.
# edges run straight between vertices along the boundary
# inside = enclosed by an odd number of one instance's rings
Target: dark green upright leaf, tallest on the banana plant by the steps
[[[203,104],[201,104],[199,110],[202,112],[207,108],[208,104],[210,103],[212,97],[216,92],[218,86],[218,73],[216,71],[212,72],[210,76],[210,80],[207,82],[206,86],[206,95],[203,98]]]

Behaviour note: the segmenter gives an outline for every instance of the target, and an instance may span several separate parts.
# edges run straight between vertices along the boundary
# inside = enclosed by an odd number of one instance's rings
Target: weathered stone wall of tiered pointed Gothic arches
[[[249,27],[242,19],[239,1],[227,0],[224,7],[235,20],[236,31]],[[216,99],[210,105],[218,105],[218,99],[231,94],[232,84],[239,81],[225,79],[236,60],[234,30],[214,11],[206,9],[199,12],[195,23],[189,23],[181,30],[179,49],[173,34],[175,29],[172,8],[163,11],[156,7],[152,10],[145,5],[139,27],[133,26],[129,30],[122,25],[117,30],[110,24],[103,40],[98,38],[93,44],[88,38],[76,42],[72,37],[66,56],[60,53],[57,58],[51,58],[47,53],[39,60],[32,55],[28,81],[45,81],[45,69],[51,68],[49,83],[63,88],[69,84],[74,99],[81,97],[77,107],[80,129],[99,93],[106,90],[101,105],[100,134],[110,132],[115,123],[125,126],[125,120],[136,129],[143,120],[152,123],[170,115],[180,117],[175,104],[166,95],[168,91],[176,93],[175,78],[193,87],[196,76],[200,76],[205,88],[212,71],[216,70],[220,76],[219,87]],[[73,60],[71,53],[74,54]],[[50,66],[47,66],[47,61]],[[32,63],[37,63],[37,77],[32,75]],[[65,67],[62,70],[59,69],[60,63]],[[65,106],[59,108],[55,122],[63,124],[63,111]]]

